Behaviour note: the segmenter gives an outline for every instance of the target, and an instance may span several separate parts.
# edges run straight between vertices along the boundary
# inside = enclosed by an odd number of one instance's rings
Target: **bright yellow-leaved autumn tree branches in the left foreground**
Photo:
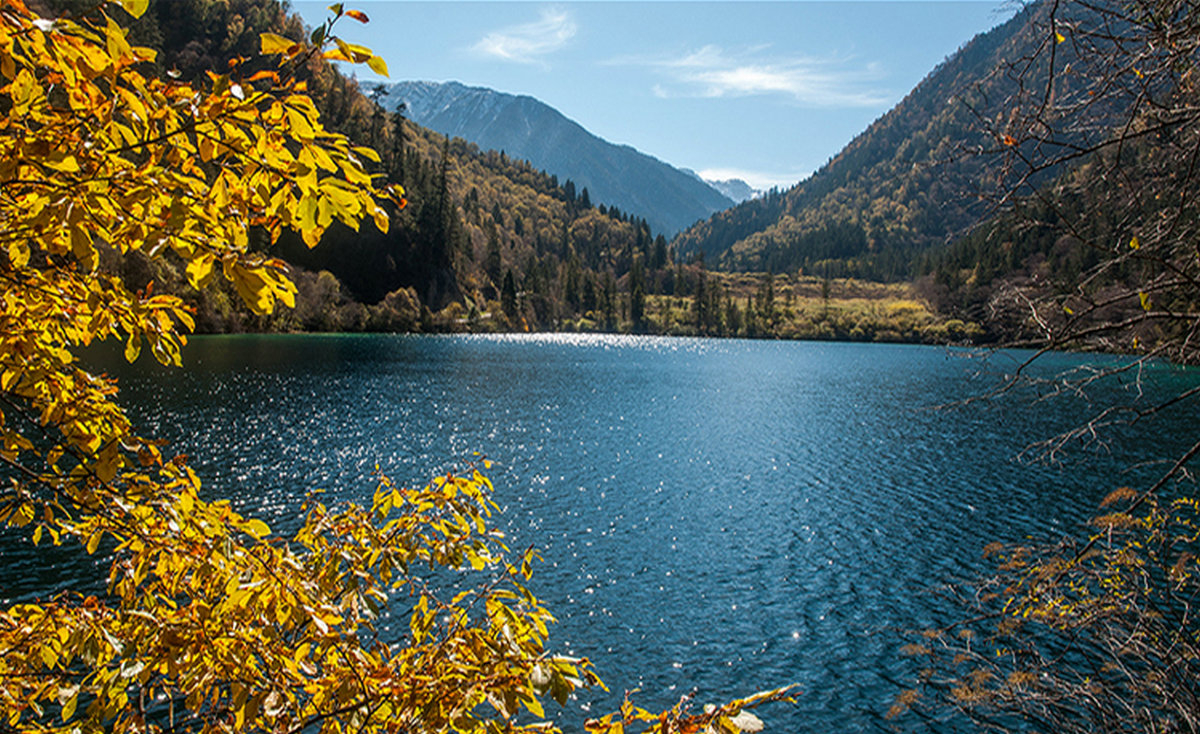
[[[133,16],[145,0],[124,0]],[[144,76],[102,6],[92,20],[0,4],[0,522],[34,543],[104,554],[103,592],[0,609],[0,727],[37,732],[545,730],[545,697],[598,685],[544,649],[548,610],[526,589],[535,553],[487,525],[469,469],[419,487],[380,479],[370,507],[311,499],[283,535],[205,499],[184,457],[137,433],[115,380],[78,350],[109,338],[179,365],[191,314],[98,270],[106,249],[169,260],[248,307],[289,306],[280,260],[251,247],[284,229],[316,245],[335,221],[389,227],[398,189],[377,155],[326,131],[295,71],[324,56],[383,61],[334,35],[260,36],[256,64],[200,83]],[[222,70],[223,71],[223,70]],[[436,568],[473,573],[451,595]],[[402,640],[379,637],[388,609]],[[752,728],[769,692],[692,712],[628,704],[596,732]]]

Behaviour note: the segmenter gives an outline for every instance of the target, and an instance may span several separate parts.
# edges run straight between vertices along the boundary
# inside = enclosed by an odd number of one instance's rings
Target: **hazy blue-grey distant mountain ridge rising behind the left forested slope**
[[[658,158],[614,145],[554,108],[528,96],[466,86],[457,82],[400,82],[384,88],[383,104],[442,134],[499,150],[570,180],[590,200],[646,218],[673,235],[733,199]]]

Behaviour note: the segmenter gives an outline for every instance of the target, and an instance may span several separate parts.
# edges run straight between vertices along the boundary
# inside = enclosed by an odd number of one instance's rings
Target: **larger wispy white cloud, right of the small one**
[[[660,97],[749,97],[781,95],[812,107],[877,107],[889,96],[876,88],[875,65],[851,66],[845,59],[772,56],[767,47],[736,53],[704,46],[673,58],[618,59],[662,77],[653,91]]]

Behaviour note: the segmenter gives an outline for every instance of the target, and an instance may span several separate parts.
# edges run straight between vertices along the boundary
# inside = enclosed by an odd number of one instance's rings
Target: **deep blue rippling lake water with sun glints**
[[[545,561],[534,591],[551,646],[587,655],[608,697],[559,714],[576,727],[623,691],[664,708],[797,682],[772,732],[884,730],[911,675],[901,630],[953,610],[926,592],[985,568],[992,540],[1066,533],[1116,486],[1181,452],[1190,411],[1118,428],[1066,465],[1016,461],[1132,385],[1037,403],[995,387],[1026,354],[928,347],[612,336],[196,338],[184,371],[121,365],[143,433],[187,453],[211,495],[275,527],[313,488],[366,500],[376,465],[406,483],[474,452],[514,547]],[[1049,355],[1034,368],[1112,363]],[[1196,374],[1156,367],[1150,397]],[[1126,380],[1129,381],[1128,379]],[[0,597],[78,584],[10,537]],[[23,571],[25,570],[25,571]]]

